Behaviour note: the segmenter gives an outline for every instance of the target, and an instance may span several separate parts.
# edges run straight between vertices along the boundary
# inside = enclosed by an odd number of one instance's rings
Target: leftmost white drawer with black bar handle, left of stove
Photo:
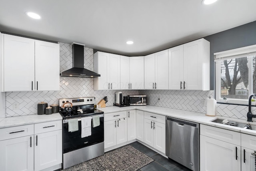
[[[34,135],[34,124],[0,129],[0,141],[28,135]]]

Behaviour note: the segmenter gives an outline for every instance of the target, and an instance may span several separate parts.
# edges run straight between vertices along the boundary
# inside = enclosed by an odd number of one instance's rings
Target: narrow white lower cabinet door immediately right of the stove
[[[104,148],[116,145],[116,120],[104,122]]]

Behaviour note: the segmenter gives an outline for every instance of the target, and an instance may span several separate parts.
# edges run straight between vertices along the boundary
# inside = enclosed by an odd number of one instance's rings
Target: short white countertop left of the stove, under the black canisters
[[[62,120],[62,116],[60,115],[60,113],[53,113],[51,115],[34,114],[34,115],[4,117],[1,119],[0,119],[0,128],[5,128],[5,127],[14,127],[14,126],[20,126],[20,125],[28,125],[28,124],[34,124],[34,123]]]

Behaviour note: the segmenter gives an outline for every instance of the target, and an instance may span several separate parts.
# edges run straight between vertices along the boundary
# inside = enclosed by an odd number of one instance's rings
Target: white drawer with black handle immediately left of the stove
[[[62,120],[35,124],[35,134],[62,129]]]

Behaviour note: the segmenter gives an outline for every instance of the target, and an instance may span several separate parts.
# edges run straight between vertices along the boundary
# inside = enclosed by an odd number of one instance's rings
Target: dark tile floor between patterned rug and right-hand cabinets
[[[138,141],[130,143],[129,145],[155,160],[142,167],[138,171],[191,171],[190,169],[180,165],[179,163],[176,163],[171,159],[166,159],[162,155],[146,147],[145,145],[142,145]]]

